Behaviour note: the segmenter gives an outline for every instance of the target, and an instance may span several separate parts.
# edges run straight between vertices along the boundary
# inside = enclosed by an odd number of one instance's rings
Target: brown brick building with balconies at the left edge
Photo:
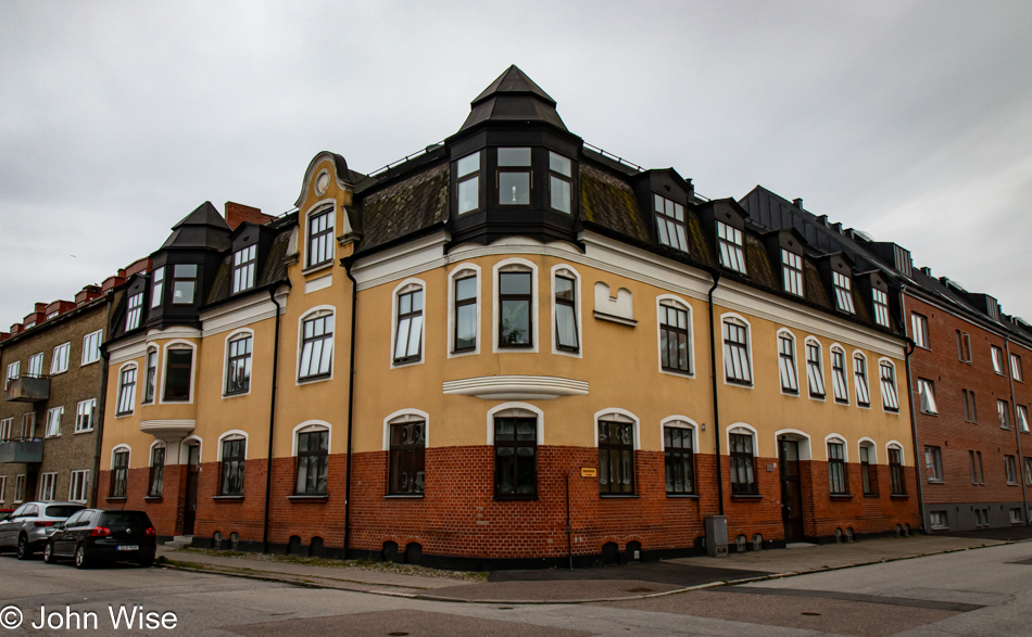
[[[0,332],[0,508],[26,500],[92,505],[99,469],[110,294],[117,277],[74,301],[37,303]]]

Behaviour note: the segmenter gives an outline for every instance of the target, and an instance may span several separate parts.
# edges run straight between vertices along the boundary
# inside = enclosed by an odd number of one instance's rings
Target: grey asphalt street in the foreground
[[[576,585],[576,581],[564,582]],[[542,586],[554,583],[542,582]],[[455,603],[163,569],[77,571],[0,557],[0,635],[856,635],[1032,634],[1032,543],[743,586],[590,604]],[[40,625],[40,609],[42,627]],[[90,615],[96,616],[96,629]],[[147,613],[152,613],[148,615]],[[162,628],[164,614],[175,627]],[[87,622],[87,629],[67,624]],[[49,626],[47,622],[49,621]],[[134,624],[135,625],[135,624]],[[74,625],[73,625],[74,627]],[[146,627],[146,626],[144,626]]]

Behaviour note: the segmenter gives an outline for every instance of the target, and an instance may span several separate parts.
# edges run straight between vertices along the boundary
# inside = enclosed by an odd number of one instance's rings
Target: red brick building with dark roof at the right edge
[[[1032,519],[1032,441],[1025,380],[1032,326],[996,298],[916,268],[909,251],[831,224],[763,188],[742,200],[771,228],[794,228],[826,250],[878,270],[913,341],[908,386],[924,528],[969,531]]]

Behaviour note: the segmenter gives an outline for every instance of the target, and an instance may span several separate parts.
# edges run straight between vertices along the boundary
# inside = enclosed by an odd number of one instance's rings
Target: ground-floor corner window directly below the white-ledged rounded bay
[[[538,495],[537,418],[494,419],[494,497]]]

